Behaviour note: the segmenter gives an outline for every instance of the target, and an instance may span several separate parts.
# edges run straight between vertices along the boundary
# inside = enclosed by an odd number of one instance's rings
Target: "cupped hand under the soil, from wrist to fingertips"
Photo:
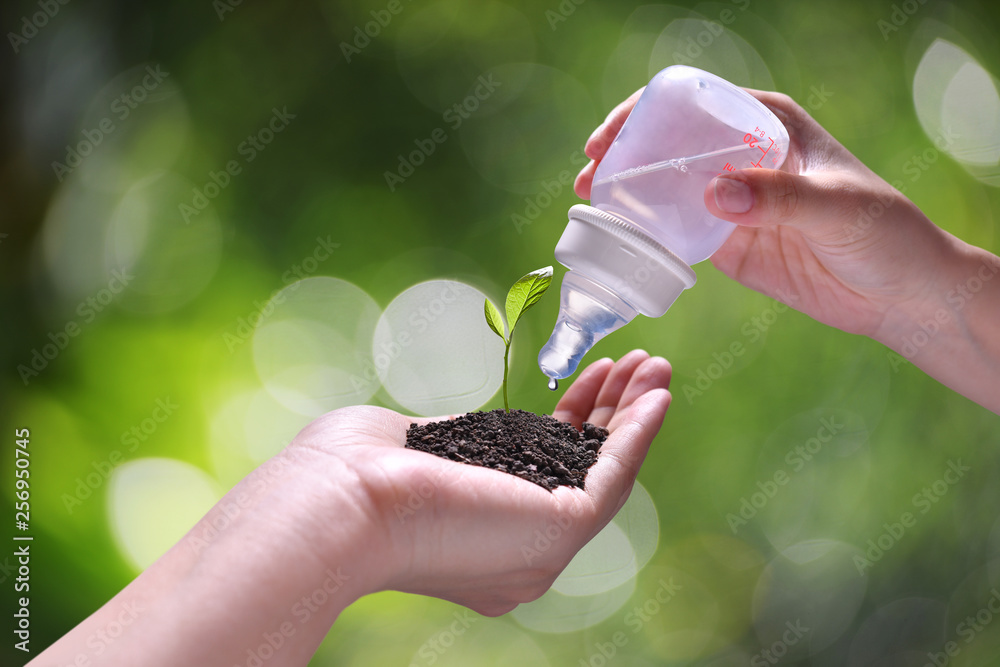
[[[337,410],[307,427],[292,448],[319,450],[316,466],[347,466],[375,530],[375,590],[432,595],[486,615],[539,597],[576,552],[618,512],[670,402],[670,365],[636,350],[591,364],[553,417],[610,432],[583,489],[548,491],[513,474],[404,448],[414,421],[390,410]],[[435,419],[417,420],[427,424]],[[322,517],[342,520],[333,509]],[[544,553],[525,547],[557,526]],[[526,555],[530,554],[530,555]]]

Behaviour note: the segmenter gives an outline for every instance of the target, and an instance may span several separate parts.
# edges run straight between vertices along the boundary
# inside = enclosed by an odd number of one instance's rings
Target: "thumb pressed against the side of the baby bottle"
[[[705,188],[709,213],[753,227],[821,224],[835,219],[843,203],[835,189],[777,169],[743,169],[717,176]]]

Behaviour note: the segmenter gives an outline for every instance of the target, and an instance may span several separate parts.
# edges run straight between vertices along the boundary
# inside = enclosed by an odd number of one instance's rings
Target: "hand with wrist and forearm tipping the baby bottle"
[[[780,170],[742,169],[709,183],[708,211],[739,225],[712,263],[820,322],[884,343],[1000,412],[1000,258],[937,227],[788,96],[750,92],[785,125],[788,155]],[[591,135],[580,197],[590,196],[638,97]]]

